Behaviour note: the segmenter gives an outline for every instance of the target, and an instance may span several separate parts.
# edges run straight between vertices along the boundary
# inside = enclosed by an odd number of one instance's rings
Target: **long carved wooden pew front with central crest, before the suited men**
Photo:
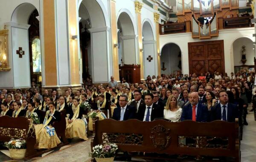
[[[141,152],[140,156],[138,153],[125,153],[117,154],[116,157],[176,159],[175,155],[187,155],[202,157],[204,161],[207,158],[212,161],[212,158],[218,157],[225,158],[226,161],[240,161],[238,119],[236,123],[96,120],[93,122],[91,150],[103,141],[116,143],[122,152]]]

